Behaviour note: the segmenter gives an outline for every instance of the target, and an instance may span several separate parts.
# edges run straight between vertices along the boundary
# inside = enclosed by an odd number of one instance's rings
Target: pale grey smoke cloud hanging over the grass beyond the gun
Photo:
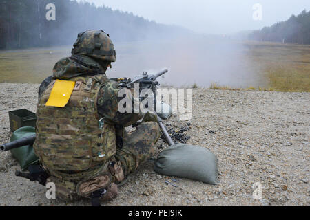
[[[135,76],[169,69],[160,82],[188,87],[211,83],[230,87],[255,86],[256,72],[240,41],[220,36],[189,34],[175,39],[114,43],[116,63],[107,71],[109,77]]]

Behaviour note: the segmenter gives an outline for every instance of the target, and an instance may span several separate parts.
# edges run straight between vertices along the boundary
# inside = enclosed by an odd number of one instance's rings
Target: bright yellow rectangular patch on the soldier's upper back
[[[74,86],[74,81],[56,80],[45,106],[65,107],[70,99]]]

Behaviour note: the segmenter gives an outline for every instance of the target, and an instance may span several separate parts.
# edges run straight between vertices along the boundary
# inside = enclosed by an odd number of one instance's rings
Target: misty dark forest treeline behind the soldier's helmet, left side
[[[47,8],[50,3],[55,8]],[[85,1],[0,0],[0,49],[72,45],[79,32],[89,29],[104,30],[113,41],[158,39],[187,32]]]

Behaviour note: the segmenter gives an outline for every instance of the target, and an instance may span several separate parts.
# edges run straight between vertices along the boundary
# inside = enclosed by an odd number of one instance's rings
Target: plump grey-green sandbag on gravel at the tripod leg
[[[154,162],[157,173],[216,184],[218,163],[214,153],[201,146],[176,144],[159,153]]]

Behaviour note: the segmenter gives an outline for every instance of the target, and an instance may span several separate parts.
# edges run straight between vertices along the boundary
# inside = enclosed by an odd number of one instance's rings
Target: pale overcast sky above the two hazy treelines
[[[310,10],[309,0],[86,0],[96,5],[133,12],[158,23],[181,25],[207,34],[255,30],[291,14]],[[253,5],[262,6],[262,20],[254,21]]]

